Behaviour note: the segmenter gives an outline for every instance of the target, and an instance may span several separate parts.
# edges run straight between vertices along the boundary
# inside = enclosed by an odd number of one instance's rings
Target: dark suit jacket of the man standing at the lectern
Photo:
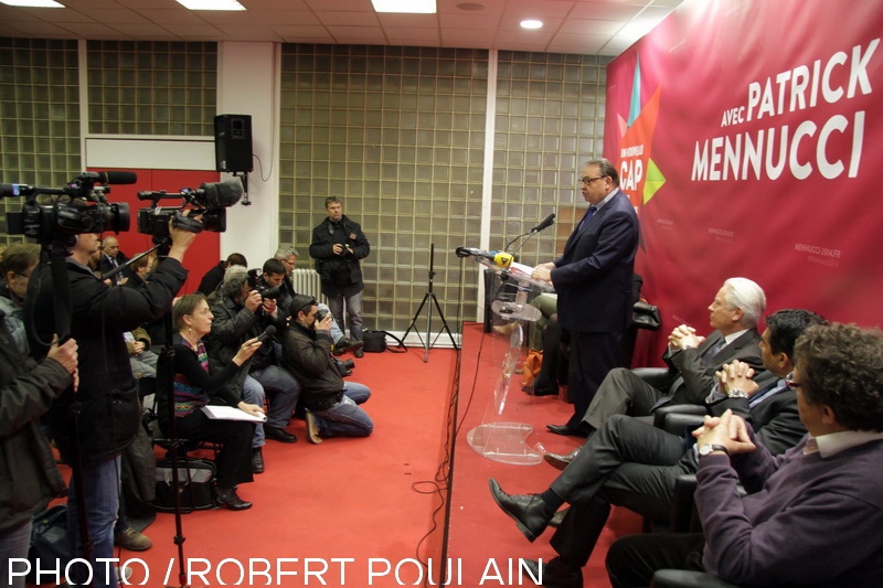
[[[617,189],[607,204],[571,234],[552,270],[564,329],[611,333],[628,328],[638,233],[638,215]]]

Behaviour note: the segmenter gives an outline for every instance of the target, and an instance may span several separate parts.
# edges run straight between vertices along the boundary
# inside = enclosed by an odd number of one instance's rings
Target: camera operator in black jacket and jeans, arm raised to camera
[[[141,424],[138,384],[129,365],[124,333],[168,312],[188,275],[181,263],[195,234],[175,227],[171,221],[169,234],[171,246],[168,256],[151,279],[137,289],[108,286],[88,268],[91,256],[98,252],[97,233],[71,237],[67,278],[71,333],[79,345],[79,385],[52,406],[50,421],[62,458],[75,466],[67,502],[71,553],[77,557],[82,554],[77,527],[77,501],[82,500],[88,535],[94,544],[92,562],[114,557],[113,530],[119,507],[120,451],[131,442]],[[34,319],[38,333],[45,338],[45,317],[53,316],[55,288],[50,267],[41,268],[40,272]],[[82,407],[78,416],[72,414],[75,406]],[[82,458],[79,472],[76,471],[75,447]],[[82,498],[77,495],[76,475],[82,478]],[[74,568],[72,579],[82,584],[88,577],[88,570],[85,566]],[[93,566],[93,586],[117,586],[116,575],[108,573],[106,566]]]

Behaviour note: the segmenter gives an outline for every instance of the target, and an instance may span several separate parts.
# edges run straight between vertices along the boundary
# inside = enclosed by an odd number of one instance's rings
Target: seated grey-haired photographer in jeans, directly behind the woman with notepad
[[[221,370],[245,341],[259,336],[268,327],[273,325],[279,332],[286,328],[288,314],[277,303],[279,289],[274,290],[264,276],[267,274],[252,280],[244,268],[227,269],[219,296],[212,303],[214,322],[209,339],[209,365],[212,370]],[[262,291],[269,296],[262,296]],[[275,393],[267,410],[267,421],[257,424],[252,442],[252,471],[262,473],[265,437],[286,443],[297,440],[285,427],[295,410],[300,384],[276,364],[274,345],[269,342],[262,345],[247,363],[246,368],[230,382],[231,389],[246,403],[258,406],[264,405],[267,389]]]

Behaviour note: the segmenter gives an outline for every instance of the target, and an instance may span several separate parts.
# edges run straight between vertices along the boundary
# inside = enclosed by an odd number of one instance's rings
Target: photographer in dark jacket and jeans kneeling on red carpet
[[[295,296],[291,323],[283,336],[284,365],[298,374],[304,386],[301,404],[307,409],[310,442],[322,437],[366,437],[374,429],[371,417],[358,405],[371,397],[363,384],[344,382],[331,355],[330,312],[317,317],[316,299]]]

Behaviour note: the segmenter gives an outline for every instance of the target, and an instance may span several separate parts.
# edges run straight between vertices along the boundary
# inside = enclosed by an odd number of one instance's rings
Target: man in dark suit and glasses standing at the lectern
[[[583,415],[604,376],[630,361],[624,356],[624,338],[631,324],[631,275],[640,229],[613,163],[586,163],[579,189],[591,206],[561,257],[536,266],[531,277],[552,282],[558,293],[558,321],[571,332],[568,394],[574,415],[565,425],[549,425],[549,430],[585,437]]]

